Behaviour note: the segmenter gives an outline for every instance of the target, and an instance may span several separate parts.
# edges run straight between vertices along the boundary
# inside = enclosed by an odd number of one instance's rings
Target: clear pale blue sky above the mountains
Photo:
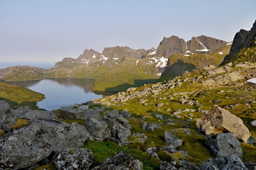
[[[85,48],[157,48],[162,38],[233,40],[256,0],[0,0],[0,62],[56,62]]]

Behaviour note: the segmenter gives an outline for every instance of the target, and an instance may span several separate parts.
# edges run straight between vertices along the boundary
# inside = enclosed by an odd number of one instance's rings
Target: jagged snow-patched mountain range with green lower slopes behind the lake
[[[107,47],[102,52],[85,49],[77,58],[56,62],[54,68],[15,66],[0,69],[0,75],[4,81],[93,78],[95,91],[124,91],[158,82],[161,75],[161,79],[168,79],[207,65],[217,67],[229,54],[231,44],[204,35],[185,42],[172,35],[163,37],[157,49],[135,50],[123,46]]]

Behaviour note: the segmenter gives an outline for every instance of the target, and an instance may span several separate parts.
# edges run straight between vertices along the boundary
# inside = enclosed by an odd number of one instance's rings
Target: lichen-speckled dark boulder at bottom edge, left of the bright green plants
[[[55,155],[52,162],[58,170],[89,170],[93,164],[93,152],[88,148],[64,149]]]

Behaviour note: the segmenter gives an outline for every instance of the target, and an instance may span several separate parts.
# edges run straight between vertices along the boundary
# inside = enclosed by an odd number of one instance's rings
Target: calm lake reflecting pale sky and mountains
[[[62,106],[83,103],[115,93],[92,91],[94,79],[82,78],[45,78],[42,80],[7,81],[8,84],[22,86],[43,93],[45,99],[38,102],[45,110],[59,109]]]

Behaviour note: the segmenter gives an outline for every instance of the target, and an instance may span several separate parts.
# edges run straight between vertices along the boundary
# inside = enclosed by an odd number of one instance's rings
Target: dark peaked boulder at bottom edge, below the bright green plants
[[[143,164],[129,154],[121,151],[108,158],[93,170],[142,170]]]

